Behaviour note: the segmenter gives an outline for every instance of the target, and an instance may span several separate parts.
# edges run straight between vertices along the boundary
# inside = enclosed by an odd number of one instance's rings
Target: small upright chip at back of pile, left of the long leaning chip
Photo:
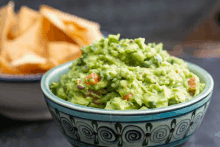
[[[39,12],[32,10],[26,6],[22,6],[18,13],[18,25],[20,34],[24,33],[37,21],[38,19],[42,19],[42,16]]]

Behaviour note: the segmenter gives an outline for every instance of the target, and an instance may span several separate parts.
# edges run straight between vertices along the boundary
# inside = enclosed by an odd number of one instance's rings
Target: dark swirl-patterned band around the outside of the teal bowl
[[[175,118],[151,121],[150,123],[110,123],[73,116],[76,128],[74,128],[69,114],[63,112],[58,114],[56,113],[57,108],[51,107],[51,102],[48,105],[49,110],[54,114],[53,118],[56,120],[56,124],[65,136],[87,145],[116,147],[118,145],[157,146],[187,138],[199,127],[209,102],[210,100],[190,113]],[[62,122],[62,125],[60,125],[60,122]],[[79,136],[76,138],[69,134],[73,136],[78,134]]]

